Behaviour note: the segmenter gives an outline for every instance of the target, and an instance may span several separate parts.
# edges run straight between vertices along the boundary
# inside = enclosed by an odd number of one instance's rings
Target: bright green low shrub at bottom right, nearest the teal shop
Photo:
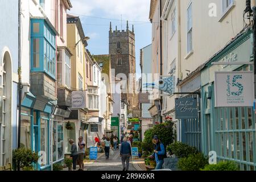
[[[238,171],[238,167],[236,163],[222,161],[218,164],[209,164],[201,169],[201,171]]]

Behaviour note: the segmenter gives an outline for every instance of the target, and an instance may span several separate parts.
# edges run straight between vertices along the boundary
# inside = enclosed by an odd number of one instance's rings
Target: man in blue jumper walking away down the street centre
[[[123,138],[120,148],[120,156],[122,159],[123,171],[128,171],[131,156],[131,145],[129,142],[127,142],[127,138]]]

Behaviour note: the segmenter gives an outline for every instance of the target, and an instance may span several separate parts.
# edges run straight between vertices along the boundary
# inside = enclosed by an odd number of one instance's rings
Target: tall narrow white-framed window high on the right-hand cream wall
[[[192,51],[192,2],[187,9],[187,52]]]

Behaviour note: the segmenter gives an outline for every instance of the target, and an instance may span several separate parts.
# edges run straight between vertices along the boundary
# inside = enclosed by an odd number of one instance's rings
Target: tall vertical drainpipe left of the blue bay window
[[[19,76],[19,83],[18,83],[18,97],[19,97],[19,113],[18,113],[18,148],[20,148],[20,123],[21,123],[21,102],[22,102],[22,78],[21,78],[21,55],[20,55],[20,1],[18,5],[18,76]]]

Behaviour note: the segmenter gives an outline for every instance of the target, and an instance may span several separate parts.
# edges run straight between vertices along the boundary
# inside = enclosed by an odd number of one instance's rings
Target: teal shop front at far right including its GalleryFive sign
[[[253,65],[246,64],[253,60],[251,38],[250,28],[245,29],[212,57],[201,72],[203,152],[208,155],[209,151],[216,151],[218,161],[236,162],[241,170],[247,171],[256,170],[253,100],[251,104],[245,102],[253,93],[253,83],[243,78],[253,70]],[[224,74],[221,79],[220,73]],[[234,73],[239,74],[233,76]],[[243,96],[248,87],[249,94]],[[222,93],[220,89],[224,89]]]

